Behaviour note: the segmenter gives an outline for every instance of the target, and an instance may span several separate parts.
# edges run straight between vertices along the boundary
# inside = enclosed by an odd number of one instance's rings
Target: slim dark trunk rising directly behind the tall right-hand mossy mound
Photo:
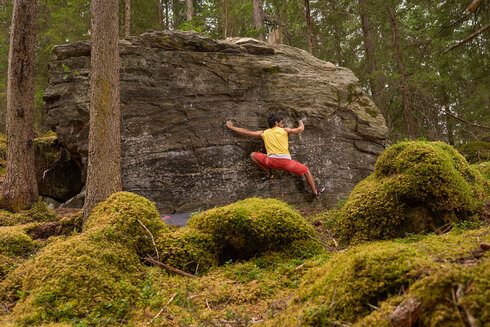
[[[402,101],[403,101],[403,114],[405,116],[405,122],[407,123],[407,133],[411,139],[415,138],[415,121],[412,112],[412,104],[410,102],[410,93],[408,89],[407,73],[405,71],[405,65],[403,64],[402,51],[400,46],[400,35],[398,32],[398,23],[396,16],[390,7],[388,7],[390,14],[390,26],[391,33],[393,35],[393,45],[395,47],[396,64],[398,67],[398,73],[401,76],[402,87]]]

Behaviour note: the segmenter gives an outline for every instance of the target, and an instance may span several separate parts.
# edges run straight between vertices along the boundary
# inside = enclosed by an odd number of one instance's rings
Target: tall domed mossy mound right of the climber
[[[350,194],[338,220],[339,238],[358,243],[402,237],[476,219],[485,192],[481,174],[450,145],[400,142]]]

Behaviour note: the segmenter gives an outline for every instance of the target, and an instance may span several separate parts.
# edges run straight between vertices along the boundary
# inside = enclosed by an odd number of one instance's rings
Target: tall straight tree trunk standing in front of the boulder
[[[90,128],[86,220],[95,205],[122,190],[117,0],[92,0]]]

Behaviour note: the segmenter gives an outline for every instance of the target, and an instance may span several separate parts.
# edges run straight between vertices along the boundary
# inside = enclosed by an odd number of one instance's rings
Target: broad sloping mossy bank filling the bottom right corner
[[[490,253],[481,257],[476,241],[488,242],[489,232],[376,242],[338,253],[310,270],[288,309],[266,325],[391,326],[390,314],[415,297],[417,326],[463,325],[463,307],[483,326],[490,318]]]

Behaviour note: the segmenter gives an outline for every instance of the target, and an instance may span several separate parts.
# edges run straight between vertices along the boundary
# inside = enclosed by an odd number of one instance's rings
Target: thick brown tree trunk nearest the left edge
[[[7,77],[7,171],[0,206],[13,211],[37,198],[34,168],[36,0],[15,0]]]

